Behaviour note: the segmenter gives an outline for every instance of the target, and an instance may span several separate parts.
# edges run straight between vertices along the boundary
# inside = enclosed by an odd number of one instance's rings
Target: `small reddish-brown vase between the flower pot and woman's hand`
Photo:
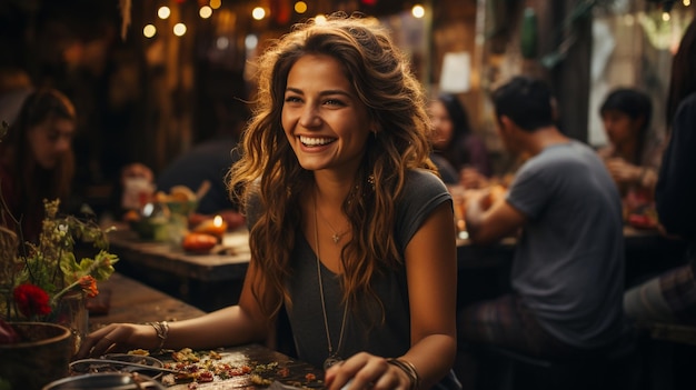
[[[56,302],[53,311],[49,314],[49,322],[63,326],[72,334],[72,353],[80,349],[82,338],[89,329],[89,311],[87,310],[87,297],[82,291],[71,291]]]

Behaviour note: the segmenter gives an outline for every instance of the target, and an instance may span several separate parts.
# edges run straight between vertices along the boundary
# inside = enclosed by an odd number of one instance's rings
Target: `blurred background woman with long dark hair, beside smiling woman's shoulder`
[[[471,131],[466,109],[455,94],[440,93],[429,104],[434,127],[431,156],[448,182],[451,171],[466,188],[480,188],[490,176],[484,141]]]

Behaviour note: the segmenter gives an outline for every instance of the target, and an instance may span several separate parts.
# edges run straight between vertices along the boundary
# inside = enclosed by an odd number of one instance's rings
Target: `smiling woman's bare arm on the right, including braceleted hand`
[[[450,203],[440,204],[406,247],[411,347],[402,357],[357,353],[327,370],[327,389],[429,389],[451,369],[457,350],[457,259]],[[397,358],[394,362],[388,358]],[[418,383],[409,373],[412,364]]]

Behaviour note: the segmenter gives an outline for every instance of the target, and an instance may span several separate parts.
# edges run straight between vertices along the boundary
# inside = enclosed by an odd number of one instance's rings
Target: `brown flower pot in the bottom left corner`
[[[48,322],[10,322],[20,341],[0,344],[0,388],[39,390],[69,374],[70,330]]]

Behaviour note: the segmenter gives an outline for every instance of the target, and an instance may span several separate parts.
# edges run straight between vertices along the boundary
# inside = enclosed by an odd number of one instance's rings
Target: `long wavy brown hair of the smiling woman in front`
[[[288,73],[307,54],[337,59],[367,106],[378,130],[367,142],[352,192],[342,203],[352,240],[341,254],[344,301],[371,294],[377,272],[402,263],[395,242],[395,202],[409,170],[435,166],[428,158],[430,122],[425,94],[409,62],[388,31],[361,16],[335,13],[325,22],[296,26],[258,59],[258,94],[253,119],[241,140],[241,159],[229,174],[229,188],[247,209],[252,196],[262,210],[250,227],[251,258],[261,270],[253,293],[264,288],[291,303],[284,279],[291,277],[290,253],[301,227],[299,199],[314,188],[314,174],[302,169],[286,138],[281,111]],[[272,308],[275,313],[282,302]]]

